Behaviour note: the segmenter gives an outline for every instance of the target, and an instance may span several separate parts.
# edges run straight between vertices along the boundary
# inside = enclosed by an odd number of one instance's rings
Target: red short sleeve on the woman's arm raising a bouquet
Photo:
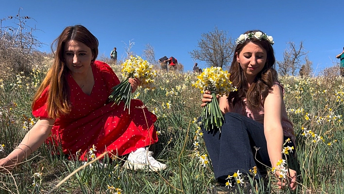
[[[108,91],[120,84],[120,79],[109,65],[100,61],[95,61],[95,65],[98,66]]]

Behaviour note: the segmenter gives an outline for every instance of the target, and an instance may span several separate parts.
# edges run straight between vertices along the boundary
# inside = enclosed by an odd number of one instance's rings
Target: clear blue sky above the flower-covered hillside
[[[66,26],[82,24],[99,42],[99,56],[109,56],[117,47],[134,39],[132,51],[142,55],[146,44],[155,49],[155,59],[174,56],[192,69],[190,51],[197,49],[202,33],[219,30],[237,38],[243,32],[260,29],[275,40],[275,56],[282,60],[286,42],[302,40],[313,69],[332,66],[343,51],[343,1],[337,0],[1,0],[0,18],[29,16],[37,39],[50,44]],[[201,68],[205,62],[197,61]]]

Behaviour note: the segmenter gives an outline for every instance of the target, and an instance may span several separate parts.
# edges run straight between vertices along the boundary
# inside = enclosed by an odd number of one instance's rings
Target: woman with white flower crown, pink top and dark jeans
[[[203,130],[215,178],[227,185],[215,188],[214,193],[235,192],[235,187],[228,186],[237,185],[233,177],[228,178],[234,173],[242,173],[240,176],[245,177],[243,181],[247,183],[248,172],[255,166],[258,167],[256,179],[260,179],[259,170],[264,166],[280,168],[277,163],[283,159],[283,147],[295,147],[292,123],[287,118],[283,101],[283,87],[274,69],[273,37],[258,30],[247,31],[240,35],[236,44],[229,72],[238,90],[219,99],[225,119],[221,133]],[[211,98],[210,92],[206,92],[201,106],[206,106]],[[291,141],[283,145],[288,138]],[[276,170],[275,176],[280,175],[282,172]],[[286,178],[279,179],[277,184],[279,188],[290,186],[295,190],[295,181],[296,172],[289,169]],[[242,189],[249,192],[250,187],[248,182]]]

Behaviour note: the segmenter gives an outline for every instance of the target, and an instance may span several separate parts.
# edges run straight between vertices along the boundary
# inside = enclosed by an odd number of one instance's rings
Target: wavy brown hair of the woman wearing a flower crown
[[[252,32],[255,33],[261,31],[252,30],[247,31],[244,34]],[[262,106],[264,104],[266,96],[269,94],[269,91],[272,90],[274,82],[277,81],[277,72],[274,69],[275,54],[274,49],[272,48],[269,41],[265,39],[259,40],[256,38],[246,39],[245,42],[238,44],[234,53],[238,53],[239,55],[242,49],[249,42],[257,44],[261,48],[265,49],[267,53],[266,63],[264,65],[264,68],[257,74],[255,80],[248,88],[248,83],[244,71],[241,69],[241,66],[237,61],[236,54],[234,54],[229,72],[231,74],[230,80],[232,81],[233,86],[236,86],[238,90],[229,93],[228,101],[232,102],[232,105],[234,106],[236,103],[239,103],[244,98],[246,98],[247,107],[250,109],[257,109],[259,106]]]

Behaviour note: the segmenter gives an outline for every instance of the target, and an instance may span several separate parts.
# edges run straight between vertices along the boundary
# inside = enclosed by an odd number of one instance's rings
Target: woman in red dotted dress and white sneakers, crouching
[[[54,44],[54,63],[32,104],[39,120],[0,166],[12,169],[46,141],[61,144],[64,154],[81,160],[108,151],[110,156],[129,154],[124,164],[129,169],[165,169],[145,148],[157,142],[155,115],[139,100],[131,101],[130,114],[123,103],[108,102],[111,88],[120,80],[107,64],[95,61],[97,38],[76,25],[65,28]],[[140,82],[129,82],[134,92]]]

